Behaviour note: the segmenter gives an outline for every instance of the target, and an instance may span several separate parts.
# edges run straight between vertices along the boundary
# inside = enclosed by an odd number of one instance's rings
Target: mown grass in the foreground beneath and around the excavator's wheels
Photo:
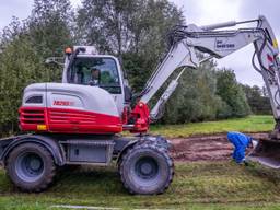
[[[176,163],[170,189],[158,196],[131,196],[114,167],[68,171],[47,191],[18,191],[0,171],[0,209],[49,209],[52,205],[124,209],[279,209],[280,174],[233,162]]]

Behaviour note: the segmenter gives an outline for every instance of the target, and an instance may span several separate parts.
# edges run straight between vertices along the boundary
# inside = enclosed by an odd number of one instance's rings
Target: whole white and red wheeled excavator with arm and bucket
[[[168,34],[168,43],[167,54],[133,107],[116,57],[100,55],[92,46],[68,48],[61,83],[35,83],[24,90],[19,120],[26,135],[0,140],[0,161],[14,185],[24,191],[42,191],[52,182],[56,168],[63,165],[115,163],[129,192],[164,192],[172,183],[174,163],[168,140],[147,133],[150,122],[163,115],[184,71],[249,44],[255,47],[252,63],[264,78],[276,127],[247,159],[280,167],[279,49],[267,19],[178,25]],[[150,109],[151,98],[172,74],[174,79]],[[124,130],[135,136],[124,137]]]

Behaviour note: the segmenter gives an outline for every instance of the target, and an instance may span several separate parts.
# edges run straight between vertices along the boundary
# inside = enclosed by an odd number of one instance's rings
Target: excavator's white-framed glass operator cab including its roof
[[[100,55],[93,46],[74,46],[66,54],[62,83],[97,86],[114,98],[119,116],[126,100],[127,80],[119,60],[110,55]]]

